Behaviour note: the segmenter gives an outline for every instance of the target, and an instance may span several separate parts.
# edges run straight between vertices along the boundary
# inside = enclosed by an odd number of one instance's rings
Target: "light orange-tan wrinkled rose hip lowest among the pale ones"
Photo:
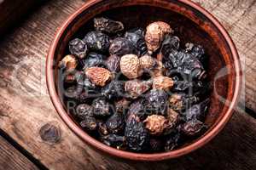
[[[166,127],[169,127],[169,122],[165,116],[151,115],[143,121],[145,128],[148,129],[150,134],[160,135],[164,132]]]

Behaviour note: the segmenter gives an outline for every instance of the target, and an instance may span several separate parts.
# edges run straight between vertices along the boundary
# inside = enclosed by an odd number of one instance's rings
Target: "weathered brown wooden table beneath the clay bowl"
[[[188,156],[150,166],[116,161],[84,144],[56,114],[44,77],[45,57],[56,28],[84,1],[55,0],[1,37],[0,169],[256,169],[256,1],[195,2],[230,32],[245,74],[241,106],[245,103],[246,108],[237,108],[215,139]],[[39,131],[47,126],[48,138],[42,139]]]

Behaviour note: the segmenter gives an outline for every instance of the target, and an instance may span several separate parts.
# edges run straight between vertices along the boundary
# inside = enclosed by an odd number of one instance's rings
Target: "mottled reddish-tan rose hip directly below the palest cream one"
[[[125,92],[131,99],[137,99],[137,97],[148,91],[151,84],[152,82],[150,81],[130,80],[125,82]]]

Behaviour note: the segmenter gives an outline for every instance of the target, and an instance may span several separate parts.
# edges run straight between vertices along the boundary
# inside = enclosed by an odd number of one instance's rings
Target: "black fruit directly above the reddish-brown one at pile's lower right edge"
[[[203,120],[204,117],[206,116],[208,104],[209,104],[209,99],[206,99],[197,105],[192,105],[189,108],[189,110],[183,113],[183,115],[186,117],[187,121],[190,121],[193,119]]]

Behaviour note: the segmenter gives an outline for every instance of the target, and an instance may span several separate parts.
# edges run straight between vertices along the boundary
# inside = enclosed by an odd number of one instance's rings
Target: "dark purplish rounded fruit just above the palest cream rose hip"
[[[136,48],[128,39],[124,37],[117,37],[111,42],[109,46],[109,53],[116,54],[121,57],[125,54],[136,54]]]

